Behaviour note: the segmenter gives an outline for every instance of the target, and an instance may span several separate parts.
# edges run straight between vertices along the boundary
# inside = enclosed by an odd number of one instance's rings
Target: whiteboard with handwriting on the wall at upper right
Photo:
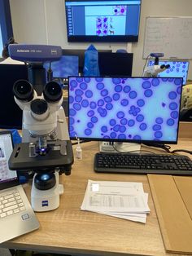
[[[164,59],[192,59],[192,17],[147,17],[143,58],[151,52]]]

